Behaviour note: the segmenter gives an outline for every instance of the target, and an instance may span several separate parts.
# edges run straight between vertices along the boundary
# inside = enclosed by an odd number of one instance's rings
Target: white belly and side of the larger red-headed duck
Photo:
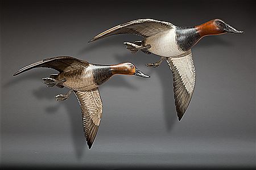
[[[158,56],[171,57],[178,56],[184,53],[177,46],[175,38],[175,28],[171,29],[170,31],[158,33],[154,36],[147,37],[144,40],[144,44],[150,44],[151,48],[148,49],[148,52],[151,52]]]

